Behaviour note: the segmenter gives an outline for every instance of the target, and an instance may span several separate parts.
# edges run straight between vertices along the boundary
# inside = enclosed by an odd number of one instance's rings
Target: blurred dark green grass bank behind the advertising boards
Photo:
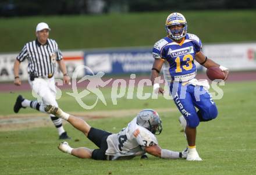
[[[256,41],[255,10],[180,11],[188,32],[209,42]],[[152,46],[165,37],[165,20],[171,12],[123,13],[83,16],[0,18],[0,52],[19,52],[35,39],[35,26],[46,22],[59,48],[86,49]]]

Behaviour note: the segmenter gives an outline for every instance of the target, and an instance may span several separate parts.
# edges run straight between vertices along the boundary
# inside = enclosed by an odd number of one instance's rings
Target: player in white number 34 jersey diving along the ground
[[[118,134],[99,130],[89,126],[84,120],[63,112],[61,109],[48,105],[45,111],[67,120],[73,127],[94,142],[99,149],[85,147],[71,148],[67,142],[62,142],[59,149],[79,158],[95,160],[131,159],[145,152],[163,159],[186,158],[187,149],[183,152],[162,149],[154,134],[162,131],[161,119],[155,110],[144,109]]]

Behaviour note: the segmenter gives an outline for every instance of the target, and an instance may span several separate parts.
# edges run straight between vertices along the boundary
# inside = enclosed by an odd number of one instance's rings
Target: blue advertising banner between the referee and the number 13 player
[[[153,62],[151,48],[84,52],[84,65],[88,66],[93,73],[99,71],[106,74],[147,73],[151,72]]]

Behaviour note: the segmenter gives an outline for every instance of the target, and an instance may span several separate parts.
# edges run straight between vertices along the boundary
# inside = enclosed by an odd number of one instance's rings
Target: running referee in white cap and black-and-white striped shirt
[[[19,112],[20,108],[26,107],[45,113],[45,105],[58,106],[54,80],[54,73],[56,72],[55,63],[58,63],[63,73],[63,82],[68,84],[70,81],[58,44],[56,41],[48,38],[50,30],[47,23],[39,23],[35,29],[36,40],[27,42],[27,44],[24,45],[14,63],[14,84],[21,85],[22,81],[20,81],[19,78],[19,66],[25,59],[28,60],[29,65],[27,70],[29,73],[29,84],[31,89],[42,98],[42,102],[38,102],[37,100],[30,101],[29,99],[24,99],[22,95],[19,95],[13,107],[15,113]],[[58,130],[59,139],[70,139],[62,126],[62,120],[54,115],[50,116]]]

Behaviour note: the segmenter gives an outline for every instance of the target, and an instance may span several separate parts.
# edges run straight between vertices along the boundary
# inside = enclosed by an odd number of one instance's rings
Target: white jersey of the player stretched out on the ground
[[[145,147],[158,145],[154,134],[138,126],[136,117],[118,134],[109,135],[106,142],[108,143],[106,155],[112,156],[112,160],[131,159],[143,155]]]

